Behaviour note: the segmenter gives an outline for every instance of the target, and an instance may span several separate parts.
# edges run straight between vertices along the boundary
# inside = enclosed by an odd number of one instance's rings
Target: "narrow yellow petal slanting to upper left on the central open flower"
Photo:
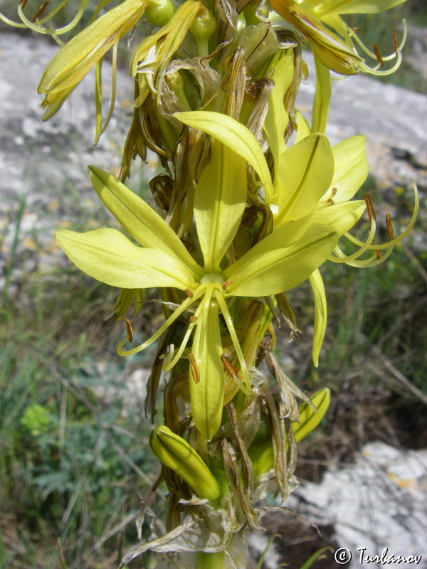
[[[88,166],[90,180],[102,203],[111,211],[127,233],[140,245],[157,249],[175,257],[200,275],[201,267],[181,243],[174,230],[136,193],[122,184],[110,172]]]

